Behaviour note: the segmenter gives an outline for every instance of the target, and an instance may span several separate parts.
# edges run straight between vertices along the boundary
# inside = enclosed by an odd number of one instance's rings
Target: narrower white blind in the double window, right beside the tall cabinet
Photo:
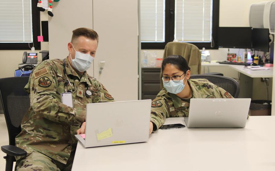
[[[141,42],[165,42],[165,0],[140,1]]]

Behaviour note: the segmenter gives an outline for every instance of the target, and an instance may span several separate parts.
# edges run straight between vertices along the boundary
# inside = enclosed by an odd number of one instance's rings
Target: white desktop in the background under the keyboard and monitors
[[[202,63],[202,67],[230,67],[240,73],[243,73],[251,78],[272,78],[273,77],[273,67],[268,67],[269,70],[244,70],[244,65],[232,65],[232,64],[219,64],[217,62],[211,61],[211,63]],[[208,71],[209,72],[209,71]]]

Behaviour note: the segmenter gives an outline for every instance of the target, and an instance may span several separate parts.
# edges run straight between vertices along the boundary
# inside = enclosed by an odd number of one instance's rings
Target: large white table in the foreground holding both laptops
[[[182,122],[168,118],[165,124]],[[246,128],[158,130],[145,143],[86,149],[78,144],[72,170],[274,171],[274,123],[275,116],[254,116]]]

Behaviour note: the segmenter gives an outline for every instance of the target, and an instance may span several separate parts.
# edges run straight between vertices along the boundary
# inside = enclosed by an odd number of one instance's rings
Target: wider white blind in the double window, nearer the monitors
[[[180,42],[211,42],[213,0],[175,0],[175,34]]]

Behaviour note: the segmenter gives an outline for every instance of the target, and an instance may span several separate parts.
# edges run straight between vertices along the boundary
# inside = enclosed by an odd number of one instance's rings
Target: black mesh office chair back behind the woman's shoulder
[[[226,76],[219,76],[219,75],[209,75],[209,74],[198,74],[198,75],[191,75],[190,79],[196,78],[204,78],[208,79],[215,85],[225,89],[228,91],[234,98],[238,98],[240,92],[240,85],[239,83],[233,79]]]

